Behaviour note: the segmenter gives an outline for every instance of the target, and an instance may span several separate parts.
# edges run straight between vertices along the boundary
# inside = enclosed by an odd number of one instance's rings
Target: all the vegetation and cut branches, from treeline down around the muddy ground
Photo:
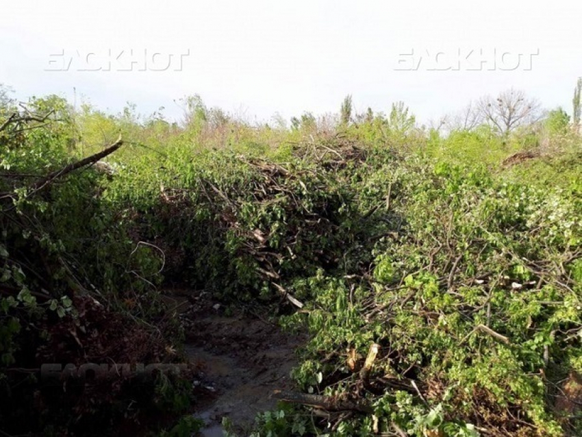
[[[38,371],[182,362],[162,294],[183,284],[309,332],[254,436],[580,435],[582,142],[561,108],[500,99],[444,134],[351,96],[288,129],[198,96],[178,124],[0,93],[1,432],[199,429],[163,419],[188,372]]]

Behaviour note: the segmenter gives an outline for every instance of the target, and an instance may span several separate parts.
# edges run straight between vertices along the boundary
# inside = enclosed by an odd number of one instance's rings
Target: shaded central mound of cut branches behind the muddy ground
[[[303,148],[296,152],[311,153]],[[224,284],[223,290],[232,292],[266,287],[301,308],[303,303],[286,284],[317,269],[337,269],[346,246],[361,232],[359,212],[353,209],[355,195],[341,168],[364,159],[364,151],[346,145],[313,152],[322,153],[320,162],[306,162],[310,158],[303,155],[286,163],[233,155],[229,165],[244,175],[242,180],[208,172],[189,188],[162,187],[151,216],[166,223],[168,233],[181,229],[179,239],[188,241],[185,245],[168,234],[150,234],[150,241],[169,253],[168,276],[196,264],[198,271],[216,272],[205,275],[201,287]],[[204,217],[194,228],[193,216]],[[147,234],[148,229],[151,225],[145,221],[140,232]],[[209,253],[209,247],[215,252]],[[201,258],[216,264],[208,266]]]

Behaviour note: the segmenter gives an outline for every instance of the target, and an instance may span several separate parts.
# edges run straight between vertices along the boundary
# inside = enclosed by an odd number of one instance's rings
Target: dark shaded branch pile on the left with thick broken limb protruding
[[[131,245],[119,243],[127,234],[100,204],[101,175],[92,166],[123,141],[71,161],[62,153],[71,127],[62,123],[54,110],[40,115],[24,106],[0,123],[0,434],[49,426],[99,434],[137,423],[162,396],[154,395],[159,375],[144,383],[136,366],[180,361],[177,323],[165,317],[157,292],[128,271]],[[103,233],[93,227],[100,223],[112,228]],[[90,253],[99,245],[110,253],[98,262]],[[130,262],[120,269],[124,258]],[[84,364],[134,372],[107,371],[88,382],[73,371],[47,381],[47,366]]]

